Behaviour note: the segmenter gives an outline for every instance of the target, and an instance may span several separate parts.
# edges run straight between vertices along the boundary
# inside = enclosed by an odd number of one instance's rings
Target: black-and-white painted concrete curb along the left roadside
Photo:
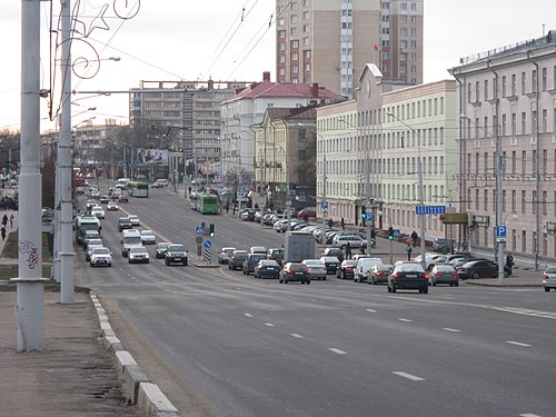
[[[110,326],[102,304],[92,291],[90,298],[99,319],[102,344],[115,358],[118,376],[123,379],[123,390],[128,395],[128,403],[137,405],[139,411],[146,417],[179,417],[178,409],[170,403],[158,385],[150,381],[148,375],[118,339]]]

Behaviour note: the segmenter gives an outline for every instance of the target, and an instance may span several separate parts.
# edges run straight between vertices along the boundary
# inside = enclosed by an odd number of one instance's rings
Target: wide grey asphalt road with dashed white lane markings
[[[190,254],[195,226],[214,222],[214,259],[221,246],[284,240],[203,217],[168,190],[123,209]],[[554,292],[461,285],[394,295],[331,276],[279,285],[227,267],[128,265],[122,214],[107,215],[115,266],[91,269],[78,256],[81,279],[121,315],[125,345],[145,345],[148,355],[133,356],[183,415],[196,406],[195,415],[222,416],[556,415]]]

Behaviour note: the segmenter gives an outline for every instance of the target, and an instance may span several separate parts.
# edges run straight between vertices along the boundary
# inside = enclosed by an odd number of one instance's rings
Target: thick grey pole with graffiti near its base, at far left
[[[40,0],[21,1],[21,172],[16,322],[18,351],[44,349],[40,203]]]

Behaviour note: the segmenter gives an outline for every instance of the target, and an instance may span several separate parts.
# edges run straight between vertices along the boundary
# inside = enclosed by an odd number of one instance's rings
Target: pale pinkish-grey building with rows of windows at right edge
[[[493,248],[502,225],[507,250],[529,255],[536,266],[556,257],[556,31],[463,58],[450,73],[458,82],[460,200],[471,245]]]

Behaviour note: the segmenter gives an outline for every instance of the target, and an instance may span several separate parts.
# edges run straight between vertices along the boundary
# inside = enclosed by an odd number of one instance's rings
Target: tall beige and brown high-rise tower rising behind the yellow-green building
[[[277,0],[277,80],[355,97],[357,71],[423,82],[424,0]]]

